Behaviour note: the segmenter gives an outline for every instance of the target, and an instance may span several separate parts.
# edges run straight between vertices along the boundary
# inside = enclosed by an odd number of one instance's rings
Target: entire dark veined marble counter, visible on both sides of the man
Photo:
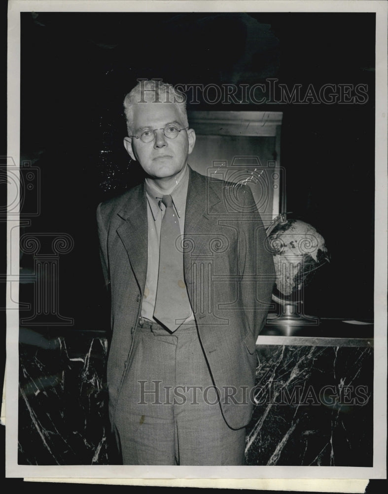
[[[322,346],[265,336],[279,339],[257,346],[247,464],[371,466],[373,338]],[[103,332],[21,328],[20,464],[118,462],[106,354]]]

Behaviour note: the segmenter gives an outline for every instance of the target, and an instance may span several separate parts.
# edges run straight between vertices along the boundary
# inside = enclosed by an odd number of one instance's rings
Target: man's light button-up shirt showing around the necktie
[[[189,181],[189,169],[185,165],[184,173],[180,176],[172,192],[173,207],[176,211],[180,233],[184,233],[184,218],[186,212],[186,198]],[[147,196],[147,221],[148,221],[148,262],[147,275],[145,279],[144,296],[141,304],[141,317],[155,321],[153,317],[156,301],[156,290],[158,287],[159,274],[159,246],[160,246],[160,229],[166,207],[162,203],[162,197],[165,192],[161,191],[153,180],[145,179],[145,192]],[[181,256],[183,269],[183,252],[177,251]],[[190,316],[185,323],[194,320],[193,310],[190,306]]]

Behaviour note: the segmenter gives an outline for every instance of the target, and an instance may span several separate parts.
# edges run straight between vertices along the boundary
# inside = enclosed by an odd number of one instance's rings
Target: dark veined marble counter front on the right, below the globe
[[[372,466],[372,352],[258,347],[247,464]]]

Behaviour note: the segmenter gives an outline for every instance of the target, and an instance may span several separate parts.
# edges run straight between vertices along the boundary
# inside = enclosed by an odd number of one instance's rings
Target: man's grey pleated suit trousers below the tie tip
[[[225,422],[195,323],[140,318],[113,428],[126,465],[242,465],[245,427]]]

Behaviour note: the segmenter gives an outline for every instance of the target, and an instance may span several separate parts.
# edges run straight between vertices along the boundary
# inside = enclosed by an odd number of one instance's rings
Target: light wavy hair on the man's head
[[[188,127],[186,96],[172,84],[159,79],[139,80],[136,86],[124,98],[124,113],[127,120],[128,135],[134,131],[134,108],[139,103],[174,103],[182,118],[184,127]]]

